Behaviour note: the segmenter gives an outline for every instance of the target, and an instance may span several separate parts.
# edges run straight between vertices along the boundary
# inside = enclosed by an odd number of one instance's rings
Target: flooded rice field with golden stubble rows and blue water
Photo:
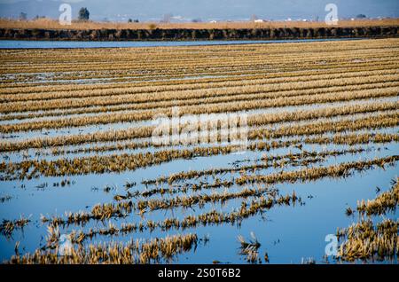
[[[21,44],[2,262],[397,263],[398,39]]]

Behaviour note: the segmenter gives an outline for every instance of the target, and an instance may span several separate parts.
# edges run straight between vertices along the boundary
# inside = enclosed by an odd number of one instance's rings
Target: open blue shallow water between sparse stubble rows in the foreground
[[[312,146],[313,149],[320,151],[321,146]],[[339,146],[337,146],[338,148]],[[341,161],[359,161],[382,157],[399,152],[397,144],[381,146],[380,151],[376,151],[377,146],[373,146],[372,152],[365,152],[356,155],[344,155],[340,157],[331,157],[320,165],[327,166]],[[310,146],[304,148],[310,150]],[[328,147],[332,150],[333,147]],[[290,149],[278,149],[273,153],[288,153]],[[298,150],[297,150],[298,151]],[[299,152],[299,151],[298,151]],[[293,152],[295,153],[295,152]],[[227,163],[237,160],[256,160],[262,157],[262,153],[248,152],[237,155],[230,154],[224,156],[213,156],[207,158],[197,158],[193,160],[177,160],[153,166],[151,168],[140,168],[136,171],[125,172],[121,174],[105,175],[87,175],[67,177],[74,184],[65,187],[52,187],[53,182],[59,182],[66,177],[41,177],[30,181],[3,182],[2,193],[11,195],[12,200],[0,204],[0,214],[4,218],[17,219],[18,215],[29,216],[32,223],[29,223],[23,231],[14,231],[12,239],[0,237],[0,259],[4,260],[13,254],[13,248],[16,241],[20,241],[20,248],[25,247],[26,251],[35,250],[38,245],[44,243],[42,236],[46,234],[45,224],[40,223],[40,215],[63,215],[64,211],[90,210],[90,208],[99,202],[111,202],[114,194],[124,194],[123,184],[126,181],[137,182],[137,186],[131,190],[143,191],[145,186],[140,184],[142,180],[151,179],[157,176],[168,175],[170,173],[187,171],[190,169],[217,168],[225,167]],[[315,165],[318,166],[318,165]],[[287,168],[299,169],[299,168]],[[262,173],[271,173],[272,168],[262,171]],[[99,236],[94,241],[107,241],[118,239],[128,241],[129,239],[149,239],[157,236],[166,236],[176,233],[196,232],[199,238],[209,236],[209,243],[206,246],[199,246],[196,251],[178,255],[174,262],[190,263],[211,263],[214,260],[220,262],[243,263],[243,257],[238,254],[239,242],[238,235],[243,235],[246,239],[250,238],[250,232],[253,231],[257,239],[261,242],[260,255],[268,252],[270,262],[300,263],[302,258],[312,257],[317,262],[323,262],[325,254],[325,236],[334,234],[337,227],[347,227],[350,223],[356,221],[355,216],[345,215],[346,207],[356,207],[356,201],[361,199],[372,199],[375,197],[375,187],[379,186],[381,192],[389,188],[389,181],[397,175],[397,167],[388,167],[383,169],[372,169],[363,173],[356,173],[346,179],[321,179],[317,182],[295,183],[295,184],[277,184],[281,194],[295,191],[305,202],[304,206],[294,207],[274,207],[266,211],[264,215],[256,215],[243,221],[241,226],[222,224],[199,226],[184,231],[145,231],[144,233],[131,233],[118,238]],[[226,176],[230,177],[230,176]],[[48,187],[37,188],[36,185],[48,182]],[[212,181],[210,181],[212,182]],[[25,188],[20,188],[25,184]],[[105,185],[112,185],[114,188],[106,193],[103,191]],[[97,187],[98,190],[93,189]],[[244,187],[233,187],[232,191],[239,191]],[[215,190],[216,191],[216,190]],[[223,192],[223,188],[218,190]],[[211,192],[211,191],[209,191]],[[190,192],[192,193],[192,192]],[[309,199],[309,196],[313,197]],[[159,196],[156,196],[159,197]],[[35,199],[35,200],[33,200]],[[62,200],[59,200],[62,199]],[[202,213],[211,208],[216,210],[231,211],[232,208],[239,207],[241,200],[231,200],[226,205],[207,204],[204,209],[194,207],[184,210],[176,208],[172,211],[155,211],[146,213],[146,219],[162,220],[166,216],[177,216],[182,218],[186,215]],[[397,214],[390,215],[396,216]],[[119,220],[110,220],[116,226],[121,223],[139,222],[140,216],[129,215],[129,217]],[[108,224],[108,221],[105,223]],[[84,230],[90,227],[101,228],[103,223],[90,222]],[[62,229],[63,232],[78,230],[79,227],[70,226]],[[212,251],[210,251],[212,249]],[[217,249],[218,251],[215,251]]]

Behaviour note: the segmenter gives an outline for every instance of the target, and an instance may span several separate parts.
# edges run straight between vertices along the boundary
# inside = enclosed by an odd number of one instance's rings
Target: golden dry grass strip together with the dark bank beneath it
[[[74,22],[61,26],[53,20],[0,22],[0,38],[24,40],[276,40],[348,37],[395,37],[398,20],[343,21],[337,26],[324,22],[233,22],[197,24],[118,24]],[[39,21],[40,22],[40,21]]]

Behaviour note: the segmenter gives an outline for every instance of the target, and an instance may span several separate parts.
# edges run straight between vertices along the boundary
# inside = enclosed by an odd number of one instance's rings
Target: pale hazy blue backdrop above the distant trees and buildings
[[[323,20],[325,5],[336,4],[340,19],[365,14],[371,18],[399,18],[399,0],[0,0],[1,17],[26,12],[58,18],[59,4],[70,3],[74,17],[87,7],[92,20],[160,20],[172,14],[175,21],[248,20],[255,14],[265,20]]]

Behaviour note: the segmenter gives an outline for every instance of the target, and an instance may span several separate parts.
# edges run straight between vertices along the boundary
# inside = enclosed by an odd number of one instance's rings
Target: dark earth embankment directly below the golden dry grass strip
[[[0,39],[129,41],[129,40],[268,40],[341,37],[395,37],[394,27],[227,28],[227,29],[42,29],[0,28]]]

